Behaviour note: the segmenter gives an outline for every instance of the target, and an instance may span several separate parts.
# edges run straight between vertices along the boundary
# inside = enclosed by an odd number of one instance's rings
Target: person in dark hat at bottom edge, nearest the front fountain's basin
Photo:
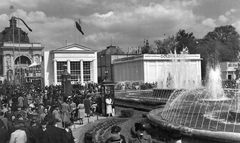
[[[152,138],[145,132],[145,127],[142,123],[135,123],[135,130],[132,128],[130,130],[131,137],[128,143],[152,143]]]

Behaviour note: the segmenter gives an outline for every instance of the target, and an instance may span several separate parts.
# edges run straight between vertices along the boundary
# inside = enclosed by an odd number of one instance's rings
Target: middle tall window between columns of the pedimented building
[[[71,81],[75,81],[75,82],[81,81],[80,62],[71,62],[70,63],[70,73],[71,73]]]

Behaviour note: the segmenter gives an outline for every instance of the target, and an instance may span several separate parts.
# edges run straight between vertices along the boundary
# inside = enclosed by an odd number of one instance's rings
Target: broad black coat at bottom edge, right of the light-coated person
[[[49,126],[45,132],[44,143],[68,143],[64,129]]]

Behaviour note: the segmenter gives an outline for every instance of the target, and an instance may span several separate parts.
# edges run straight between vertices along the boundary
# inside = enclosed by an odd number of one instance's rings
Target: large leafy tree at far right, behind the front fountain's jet
[[[206,76],[207,65],[216,62],[236,61],[239,48],[239,34],[231,25],[216,27],[203,39],[196,40],[196,53],[201,55],[202,78]]]

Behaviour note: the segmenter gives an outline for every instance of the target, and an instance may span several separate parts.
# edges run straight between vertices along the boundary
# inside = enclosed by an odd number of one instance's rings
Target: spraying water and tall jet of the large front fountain
[[[183,127],[240,133],[240,116],[231,114],[235,111],[240,114],[237,104],[240,92],[223,89],[219,65],[208,69],[206,87],[173,93],[160,116]]]

